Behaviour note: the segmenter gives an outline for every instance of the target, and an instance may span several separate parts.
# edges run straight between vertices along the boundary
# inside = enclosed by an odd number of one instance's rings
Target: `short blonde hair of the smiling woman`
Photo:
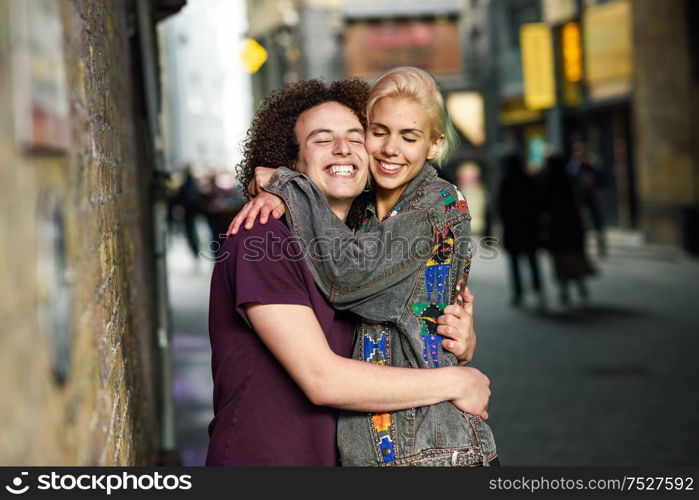
[[[434,78],[427,71],[412,66],[401,66],[384,73],[369,91],[366,106],[369,121],[374,106],[385,97],[405,97],[422,106],[430,120],[431,139],[444,138],[434,157],[434,162],[441,166],[454,150],[457,135]]]

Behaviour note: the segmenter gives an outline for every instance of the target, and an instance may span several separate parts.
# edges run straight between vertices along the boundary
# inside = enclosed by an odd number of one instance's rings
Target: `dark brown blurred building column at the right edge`
[[[641,227],[699,255],[699,4],[632,5]]]

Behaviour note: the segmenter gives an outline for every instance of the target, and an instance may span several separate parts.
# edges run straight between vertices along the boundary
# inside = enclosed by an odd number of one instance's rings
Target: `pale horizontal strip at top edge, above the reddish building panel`
[[[461,13],[459,0],[394,0],[392,2],[352,1],[345,4],[346,19],[376,19],[386,17],[440,17]]]

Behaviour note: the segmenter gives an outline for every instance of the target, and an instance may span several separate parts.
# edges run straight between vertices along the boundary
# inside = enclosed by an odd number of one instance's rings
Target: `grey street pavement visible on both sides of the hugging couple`
[[[562,308],[541,255],[546,311],[510,306],[504,254],[471,270],[478,347],[491,379],[489,423],[503,465],[699,464],[699,260],[610,231],[590,299]],[[211,409],[210,259],[181,237],[168,254],[177,442],[185,465],[206,456]],[[523,269],[525,285],[527,269]]]

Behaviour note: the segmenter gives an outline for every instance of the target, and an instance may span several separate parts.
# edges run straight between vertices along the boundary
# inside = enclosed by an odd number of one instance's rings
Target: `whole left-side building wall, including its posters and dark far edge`
[[[148,95],[183,3],[0,2],[3,465],[157,460]]]

